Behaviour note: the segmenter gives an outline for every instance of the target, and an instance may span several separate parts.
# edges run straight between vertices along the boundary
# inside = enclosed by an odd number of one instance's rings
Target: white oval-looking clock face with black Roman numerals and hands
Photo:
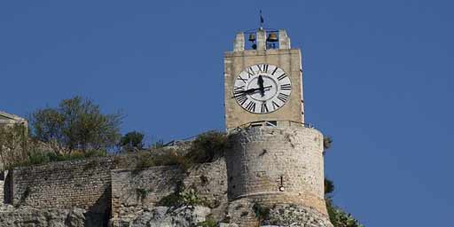
[[[286,105],[292,92],[288,74],[268,64],[247,67],[233,86],[233,98],[250,113],[268,114]]]

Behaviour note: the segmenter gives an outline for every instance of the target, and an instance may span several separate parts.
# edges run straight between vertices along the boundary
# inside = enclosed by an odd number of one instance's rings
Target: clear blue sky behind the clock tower
[[[451,226],[452,1],[2,1],[0,109],[82,95],[148,141],[223,130],[223,51],[259,9],[302,49],[335,202],[368,227]]]

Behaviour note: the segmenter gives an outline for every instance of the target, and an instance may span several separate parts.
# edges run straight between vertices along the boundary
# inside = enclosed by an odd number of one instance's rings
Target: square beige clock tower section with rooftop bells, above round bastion
[[[224,53],[224,79],[226,129],[304,122],[301,51],[291,48],[285,30],[236,35],[233,51]]]

